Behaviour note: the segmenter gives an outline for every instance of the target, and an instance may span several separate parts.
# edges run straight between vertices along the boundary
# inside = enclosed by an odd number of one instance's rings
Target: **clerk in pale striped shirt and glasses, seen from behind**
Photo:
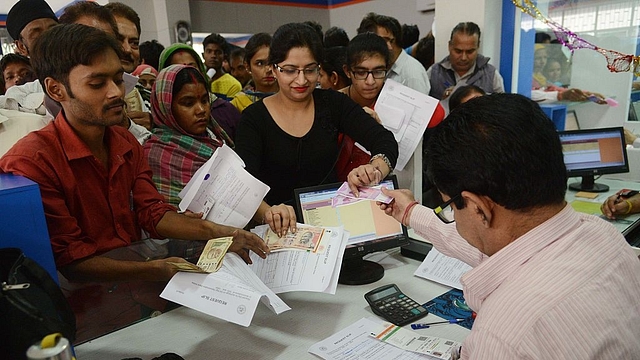
[[[395,190],[380,205],[473,266],[461,282],[477,317],[461,359],[640,358],[640,261],[611,224],[565,201],[553,123],[517,94],[472,103],[428,143],[444,204]]]

